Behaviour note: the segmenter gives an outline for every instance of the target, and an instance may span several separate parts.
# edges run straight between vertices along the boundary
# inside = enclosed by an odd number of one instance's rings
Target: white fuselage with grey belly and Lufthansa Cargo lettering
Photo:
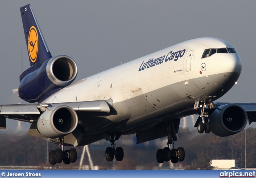
[[[185,41],[75,82],[42,103],[111,98],[116,113],[106,118],[111,123],[125,120],[122,131],[126,131],[142,121],[172,116],[198,101],[223,96],[241,73],[240,57],[237,53],[202,55],[205,49],[226,47],[233,48],[216,38]],[[100,128],[104,125],[98,123]]]

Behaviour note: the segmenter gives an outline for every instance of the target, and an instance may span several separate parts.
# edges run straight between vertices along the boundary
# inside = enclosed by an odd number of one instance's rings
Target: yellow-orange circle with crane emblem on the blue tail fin
[[[30,27],[29,33],[28,33],[28,54],[30,60],[34,63],[36,62],[38,52],[38,34],[36,27],[32,26]]]

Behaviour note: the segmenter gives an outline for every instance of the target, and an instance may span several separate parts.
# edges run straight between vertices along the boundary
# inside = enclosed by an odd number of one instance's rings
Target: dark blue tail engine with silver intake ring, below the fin
[[[30,103],[38,102],[44,94],[71,84],[76,76],[77,66],[72,58],[65,55],[54,56],[21,79],[19,96]]]

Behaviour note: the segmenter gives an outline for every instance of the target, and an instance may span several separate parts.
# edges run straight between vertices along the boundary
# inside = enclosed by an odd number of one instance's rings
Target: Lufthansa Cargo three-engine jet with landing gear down
[[[242,64],[232,45],[221,39],[192,39],[72,83],[78,73],[66,55],[52,56],[30,5],[20,8],[30,68],[20,75],[19,97],[30,104],[1,105],[6,118],[31,123],[28,135],[60,146],[50,164],[70,164],[76,149],[105,139],[106,160],[122,161],[121,135],[136,143],[167,137],[158,163],[183,161],[174,147],[182,117],[198,114],[199,133],[236,134],[255,121],[255,104],[216,103],[238,80]],[[36,104],[33,104],[36,103]]]

